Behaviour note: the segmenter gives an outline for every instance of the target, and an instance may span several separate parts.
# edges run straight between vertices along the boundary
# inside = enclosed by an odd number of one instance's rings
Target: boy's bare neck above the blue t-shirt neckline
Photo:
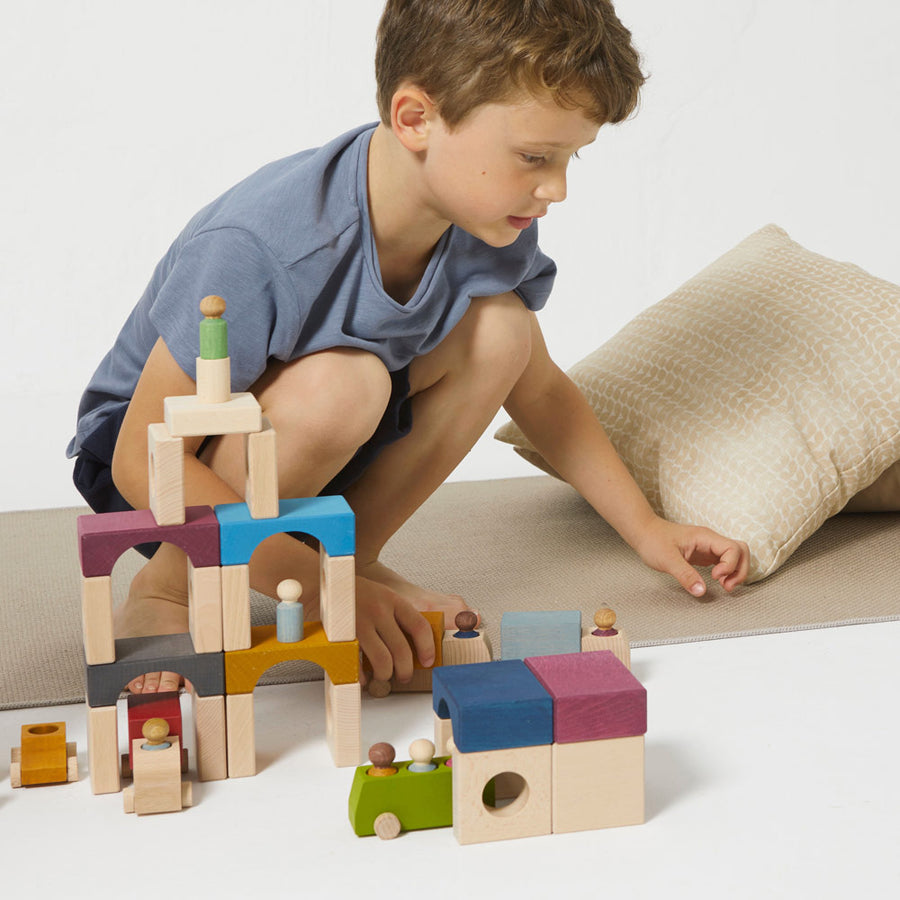
[[[406,303],[450,223],[428,208],[419,191],[417,158],[383,123],[369,143],[368,201],[382,283]]]

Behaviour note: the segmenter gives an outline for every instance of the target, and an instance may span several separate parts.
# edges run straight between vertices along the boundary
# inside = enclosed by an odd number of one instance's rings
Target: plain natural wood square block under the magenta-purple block
[[[644,737],[553,745],[553,832],[644,821]]]

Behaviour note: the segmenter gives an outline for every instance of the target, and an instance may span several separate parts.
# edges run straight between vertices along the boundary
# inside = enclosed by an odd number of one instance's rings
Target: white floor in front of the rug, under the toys
[[[460,847],[357,838],[321,684],[257,690],[254,778],[180,813],[95,797],[84,709],[0,713],[4,897],[873,898],[900,884],[900,623],[634,651],[649,694],[647,823]],[[23,724],[64,720],[81,780],[11,790]],[[429,695],[365,699],[363,742],[430,736]]]

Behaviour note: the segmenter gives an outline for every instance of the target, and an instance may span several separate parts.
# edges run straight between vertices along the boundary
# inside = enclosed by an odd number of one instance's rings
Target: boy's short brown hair
[[[390,124],[403,82],[449,126],[483,103],[546,91],[597,124],[621,122],[644,83],[610,0],[387,0],[375,53],[378,111]]]

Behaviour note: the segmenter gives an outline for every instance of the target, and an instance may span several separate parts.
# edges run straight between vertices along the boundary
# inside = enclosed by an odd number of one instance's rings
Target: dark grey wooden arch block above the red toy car
[[[128,682],[145,672],[177,672],[201,697],[225,693],[224,654],[195,653],[187,633],[158,634],[119,638],[114,663],[87,667],[88,705],[114,706]]]

